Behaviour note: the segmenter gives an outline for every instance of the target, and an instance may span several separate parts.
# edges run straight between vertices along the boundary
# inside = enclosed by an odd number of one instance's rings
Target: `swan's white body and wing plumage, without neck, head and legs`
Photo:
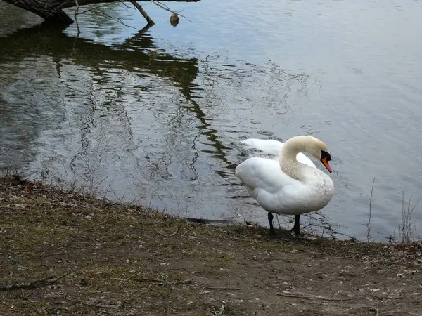
[[[283,143],[277,140],[250,138],[242,143],[275,156],[274,159],[252,157],[239,164],[235,176],[247,188],[251,197],[271,213],[301,214],[322,209],[331,201],[333,181],[314,163],[299,153],[300,173],[306,177],[302,182],[281,170],[279,157]]]

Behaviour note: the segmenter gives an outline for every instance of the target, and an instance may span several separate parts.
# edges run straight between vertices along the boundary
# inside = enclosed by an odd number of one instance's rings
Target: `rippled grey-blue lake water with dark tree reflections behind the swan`
[[[302,223],[366,239],[375,178],[371,235],[397,239],[402,192],[406,208],[422,194],[422,2],[168,5],[194,22],[172,27],[143,4],[156,22],[143,29],[138,11],[113,4],[79,15],[76,39],[75,24],[39,27],[1,3],[0,169],[267,225],[234,178],[247,157],[238,143],[310,134],[329,147],[336,191]],[[422,202],[412,220],[422,229]]]

